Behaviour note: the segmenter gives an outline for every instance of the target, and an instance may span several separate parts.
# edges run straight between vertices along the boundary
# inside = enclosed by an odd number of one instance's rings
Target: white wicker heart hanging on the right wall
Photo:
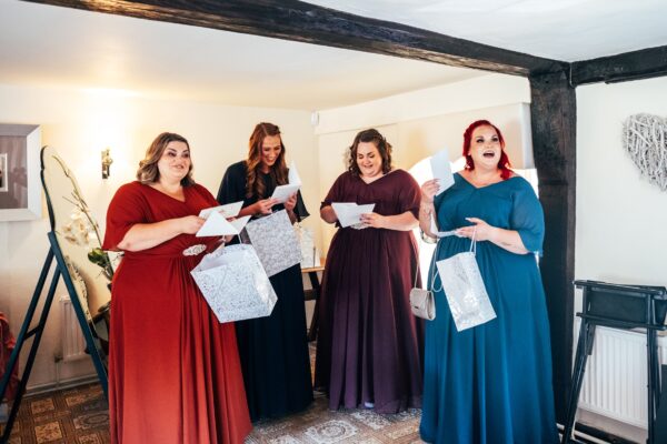
[[[630,115],[624,123],[623,145],[641,175],[667,191],[667,119]]]

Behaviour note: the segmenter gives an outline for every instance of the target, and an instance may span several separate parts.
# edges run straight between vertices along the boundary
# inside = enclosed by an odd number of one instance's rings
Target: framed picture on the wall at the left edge
[[[0,123],[0,221],[41,218],[40,145],[39,125]]]

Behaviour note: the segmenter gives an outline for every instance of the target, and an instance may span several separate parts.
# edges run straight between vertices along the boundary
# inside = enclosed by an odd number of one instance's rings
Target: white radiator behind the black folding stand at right
[[[579,337],[579,321],[577,319],[575,323],[575,347]],[[658,337],[658,347],[660,363],[667,363],[667,337]],[[646,334],[596,327],[579,407],[647,428],[646,384]]]

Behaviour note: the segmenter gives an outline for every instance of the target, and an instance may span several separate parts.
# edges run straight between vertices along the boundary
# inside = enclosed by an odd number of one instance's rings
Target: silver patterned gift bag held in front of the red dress
[[[278,301],[250,245],[218,249],[190,274],[221,323],[268,316]]]

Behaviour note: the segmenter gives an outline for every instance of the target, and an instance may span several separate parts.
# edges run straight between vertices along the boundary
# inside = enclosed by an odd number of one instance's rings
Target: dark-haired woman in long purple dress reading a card
[[[340,228],[331,203],[375,203],[361,223]],[[348,171],[329,190],[320,215],[339,226],[331,241],[320,300],[316,389],[329,407],[396,413],[421,405],[422,323],[410,312],[417,272],[420,189],[391,169],[391,145],[361,131]]]

